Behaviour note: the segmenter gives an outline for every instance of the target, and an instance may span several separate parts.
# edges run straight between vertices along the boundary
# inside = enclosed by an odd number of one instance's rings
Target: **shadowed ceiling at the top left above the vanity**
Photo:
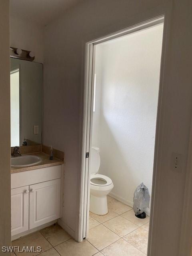
[[[45,26],[82,0],[10,0],[10,15]]]

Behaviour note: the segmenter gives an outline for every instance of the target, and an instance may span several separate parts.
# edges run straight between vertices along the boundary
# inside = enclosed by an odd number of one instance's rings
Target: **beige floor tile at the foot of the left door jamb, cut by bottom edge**
[[[88,241],[78,243],[73,239],[59,244],[55,249],[61,256],[92,256],[98,252]]]

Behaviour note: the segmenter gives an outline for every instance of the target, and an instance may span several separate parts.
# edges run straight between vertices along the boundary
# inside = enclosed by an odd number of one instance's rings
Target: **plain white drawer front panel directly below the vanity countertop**
[[[61,165],[11,174],[11,188],[19,188],[61,178]]]

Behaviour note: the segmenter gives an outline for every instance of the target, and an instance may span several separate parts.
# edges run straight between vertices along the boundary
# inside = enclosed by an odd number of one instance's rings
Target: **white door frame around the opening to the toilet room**
[[[156,120],[156,139],[155,139],[155,152],[154,152],[154,168],[153,168],[153,182],[152,182],[152,200],[151,200],[151,214],[150,214],[150,226],[153,222],[154,211],[154,191],[156,190],[156,158],[158,153],[158,140],[159,140],[159,128],[160,128],[160,113],[162,103],[162,86],[163,73],[164,73],[164,56],[165,56],[165,39],[166,39],[166,20],[165,14],[156,16],[150,20],[145,20],[134,26],[130,26],[118,32],[108,34],[104,37],[86,42],[86,57],[85,57],[85,77],[84,77],[84,116],[83,116],[83,131],[82,131],[82,166],[81,166],[81,196],[80,196],[80,222],[78,232],[78,242],[81,242],[88,236],[89,225],[89,195],[90,195],[90,157],[86,158],[86,153],[90,152],[92,141],[92,119],[93,119],[93,95],[94,95],[94,59],[95,59],[95,45],[102,42],[106,42],[118,37],[126,36],[139,30],[156,26],[164,23],[163,30],[163,42],[162,42],[162,56],[161,56],[161,68],[160,68],[160,85],[158,96],[158,110]],[[150,256],[151,239],[149,236],[148,242],[148,256]]]

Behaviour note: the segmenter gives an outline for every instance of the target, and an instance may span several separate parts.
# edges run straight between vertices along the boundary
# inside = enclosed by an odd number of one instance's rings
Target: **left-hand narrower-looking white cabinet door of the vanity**
[[[29,186],[11,190],[11,235],[28,230]]]

